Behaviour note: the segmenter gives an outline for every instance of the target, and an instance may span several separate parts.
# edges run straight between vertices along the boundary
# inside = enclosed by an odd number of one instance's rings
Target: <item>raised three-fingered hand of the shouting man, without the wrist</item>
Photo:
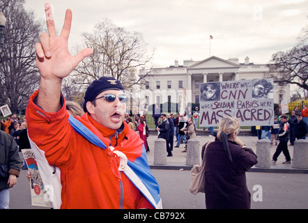
[[[68,36],[72,23],[72,11],[66,10],[66,18],[60,36],[56,36],[52,7],[45,4],[48,33],[42,33],[40,43],[36,43],[36,64],[44,79],[62,79],[74,70],[78,63],[93,53],[92,49],[83,49],[76,56],[68,52]]]

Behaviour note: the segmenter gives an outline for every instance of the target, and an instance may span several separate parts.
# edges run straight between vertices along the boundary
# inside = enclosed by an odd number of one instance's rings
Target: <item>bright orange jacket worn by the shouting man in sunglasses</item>
[[[59,112],[47,113],[33,102],[37,95],[38,91],[31,95],[26,108],[28,134],[32,149],[39,156],[36,159],[45,159],[49,165],[38,162],[40,172],[49,172],[41,174],[43,182],[45,178],[50,183],[50,172],[58,169],[54,178],[60,178],[61,185],[51,183],[54,190],[61,187],[61,198],[59,194],[54,196],[54,208],[160,208],[161,201],[159,206],[153,206],[127,174],[118,170],[121,159],[110,150],[125,153],[133,162],[144,152],[143,141],[136,132],[125,122],[123,130],[116,134],[87,113],[76,117],[105,145],[110,145],[102,149],[75,132],[68,121],[64,99]]]

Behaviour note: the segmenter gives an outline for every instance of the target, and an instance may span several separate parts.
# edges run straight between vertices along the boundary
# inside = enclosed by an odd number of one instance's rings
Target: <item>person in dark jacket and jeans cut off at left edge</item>
[[[13,187],[20,176],[22,160],[18,153],[18,147],[10,134],[0,130],[0,209],[8,209],[10,195],[8,188]]]

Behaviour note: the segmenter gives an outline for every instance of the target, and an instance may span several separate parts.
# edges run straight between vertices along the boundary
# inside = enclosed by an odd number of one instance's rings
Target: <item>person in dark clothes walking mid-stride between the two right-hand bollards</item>
[[[280,153],[284,153],[286,161],[283,164],[291,164],[291,156],[288,152],[288,139],[290,137],[290,125],[287,122],[287,117],[285,115],[280,116],[280,128],[278,132],[279,144],[276,148],[276,152],[272,156],[272,163],[277,162],[277,158]]]

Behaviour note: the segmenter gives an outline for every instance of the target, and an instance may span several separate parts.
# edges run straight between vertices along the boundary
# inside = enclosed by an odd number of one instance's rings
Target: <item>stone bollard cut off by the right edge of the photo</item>
[[[308,168],[308,141],[298,139],[294,142],[292,167]]]

